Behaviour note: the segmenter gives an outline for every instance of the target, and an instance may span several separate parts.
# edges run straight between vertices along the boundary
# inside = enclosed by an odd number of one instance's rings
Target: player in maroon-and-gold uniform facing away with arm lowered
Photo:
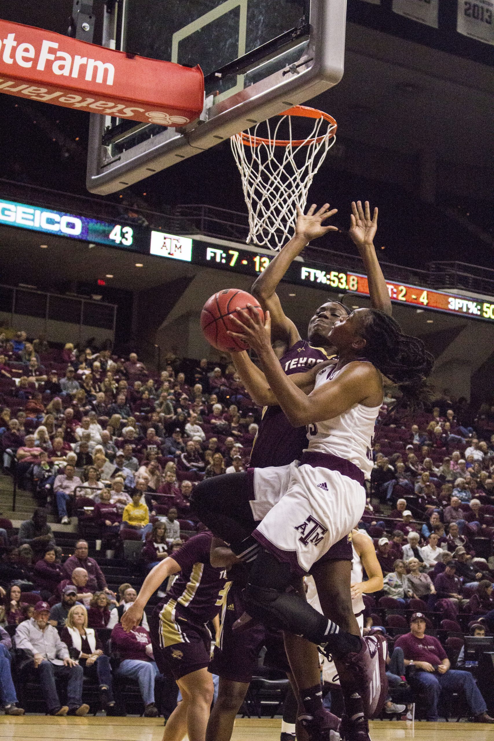
[[[164,675],[173,674],[182,696],[167,720],[163,741],[177,741],[186,735],[204,741],[206,734],[213,702],[213,677],[207,671],[211,658],[207,622],[217,619],[227,586],[226,571],[210,565],[212,539],[210,531],[203,531],[156,565],[121,619],[126,631],[139,625],[152,594],[164,579],[178,574],[150,620],[156,664]]]

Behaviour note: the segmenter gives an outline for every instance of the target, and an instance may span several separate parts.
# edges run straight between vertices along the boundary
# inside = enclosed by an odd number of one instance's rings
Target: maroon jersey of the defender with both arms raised
[[[307,339],[300,339],[280,359],[281,368],[290,376],[304,373],[314,365],[328,360],[323,348],[313,348]],[[306,428],[290,425],[281,407],[264,407],[259,425],[250,465],[253,468],[267,468],[270,465],[288,465],[300,460],[302,451],[307,448]]]

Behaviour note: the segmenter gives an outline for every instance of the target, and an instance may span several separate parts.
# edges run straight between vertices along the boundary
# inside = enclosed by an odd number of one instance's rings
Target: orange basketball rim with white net
[[[293,139],[292,119],[296,118],[313,119],[304,139]],[[288,139],[278,139],[282,125],[287,127]],[[266,128],[266,137],[258,136],[260,126]],[[280,113],[276,124],[268,119],[231,137],[249,209],[247,242],[280,250],[293,236],[296,204],[305,210],[313,177],[336,142],[336,128],[335,119],[324,111],[296,105]]]

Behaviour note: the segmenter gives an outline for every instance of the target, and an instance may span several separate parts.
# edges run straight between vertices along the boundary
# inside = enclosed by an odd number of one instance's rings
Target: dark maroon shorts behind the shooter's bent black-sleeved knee
[[[209,671],[211,674],[218,674],[218,677],[229,679],[230,682],[248,684],[258,674],[258,659],[263,646],[267,649],[264,666],[290,671],[290,665],[281,632],[268,631],[257,622],[251,628],[233,631],[233,623],[244,614],[242,588],[241,584],[236,585],[233,582],[225,595],[221,611],[220,642],[215,647]]]

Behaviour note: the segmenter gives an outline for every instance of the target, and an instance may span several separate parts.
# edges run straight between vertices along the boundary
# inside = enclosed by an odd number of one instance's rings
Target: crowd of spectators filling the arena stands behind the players
[[[462,645],[453,651],[453,638],[494,633],[494,407],[483,405],[471,418],[464,402],[443,396],[411,416],[384,404],[378,418],[360,527],[374,539],[384,587],[364,594],[365,619],[366,631],[385,632],[390,654],[424,627],[435,639],[437,665],[447,654],[460,668]],[[144,715],[158,715],[154,688],[166,678],[153,661],[147,617],[131,634],[123,631],[120,619],[136,599],[136,584],[110,589],[107,559],[127,558],[131,544],[145,574],[180,548],[198,528],[189,505],[193,487],[247,468],[261,410],[227,359],[210,365],[170,354],[166,369],[155,373],[136,353],[122,359],[70,343],[50,348],[42,338],[27,342],[23,332],[0,335],[0,410],[4,473],[38,505],[18,534],[0,518],[6,712],[22,712],[16,687],[34,667],[52,714],[89,711],[84,681],[98,686],[101,708],[119,713],[115,682],[134,679]],[[47,515],[61,525],[77,523],[84,535],[70,555],[57,545]],[[400,674],[435,698],[428,716],[435,720],[447,682],[421,686],[421,672],[412,681],[413,641],[401,642]],[[63,700],[59,678],[67,687]],[[473,680],[460,679],[472,700],[475,682],[473,689]],[[478,715],[475,702],[470,711]]]

